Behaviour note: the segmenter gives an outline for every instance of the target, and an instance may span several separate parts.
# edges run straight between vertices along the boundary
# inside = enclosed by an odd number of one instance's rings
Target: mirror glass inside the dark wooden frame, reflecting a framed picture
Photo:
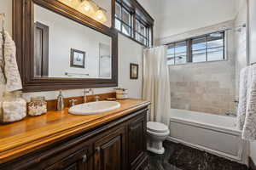
[[[34,5],[34,77],[111,79],[112,38]]]

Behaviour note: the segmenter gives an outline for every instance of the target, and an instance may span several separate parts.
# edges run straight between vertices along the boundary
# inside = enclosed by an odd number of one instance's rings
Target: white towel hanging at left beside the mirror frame
[[[15,42],[9,36],[7,31],[4,31],[4,75],[6,77],[6,91],[13,92],[22,89],[20,80],[20,73],[16,61],[16,47]],[[2,40],[3,41],[3,40]]]

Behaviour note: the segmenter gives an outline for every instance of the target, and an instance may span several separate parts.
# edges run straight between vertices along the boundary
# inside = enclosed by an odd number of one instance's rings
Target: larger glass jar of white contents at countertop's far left
[[[21,91],[4,93],[0,103],[0,122],[17,122],[26,117],[26,100],[21,97]]]

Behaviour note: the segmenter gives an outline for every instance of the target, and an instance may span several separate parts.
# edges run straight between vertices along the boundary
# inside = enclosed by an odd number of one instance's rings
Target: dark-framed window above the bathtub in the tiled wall
[[[183,42],[168,45],[168,65],[187,62],[199,63],[224,60],[224,32],[214,32],[201,37],[189,38]]]

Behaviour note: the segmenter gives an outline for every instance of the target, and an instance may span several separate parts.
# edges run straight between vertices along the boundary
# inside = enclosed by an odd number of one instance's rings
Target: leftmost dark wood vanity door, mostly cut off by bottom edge
[[[87,150],[79,150],[45,170],[90,170],[87,164]]]

